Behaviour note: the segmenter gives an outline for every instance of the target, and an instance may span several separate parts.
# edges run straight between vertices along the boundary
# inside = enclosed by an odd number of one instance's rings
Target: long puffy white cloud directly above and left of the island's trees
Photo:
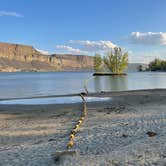
[[[106,41],[106,40],[100,40],[100,41],[70,40],[70,43],[78,44],[82,46],[82,50],[89,52],[107,51],[117,47],[117,45],[113,44],[111,41]]]

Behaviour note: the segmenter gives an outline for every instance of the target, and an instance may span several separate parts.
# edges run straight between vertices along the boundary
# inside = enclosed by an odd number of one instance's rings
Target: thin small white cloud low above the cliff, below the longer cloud
[[[67,53],[72,53],[72,54],[87,54],[87,51],[80,50],[78,48],[73,48],[71,46],[66,46],[66,45],[57,45],[57,49],[60,49],[61,51],[67,52]]]

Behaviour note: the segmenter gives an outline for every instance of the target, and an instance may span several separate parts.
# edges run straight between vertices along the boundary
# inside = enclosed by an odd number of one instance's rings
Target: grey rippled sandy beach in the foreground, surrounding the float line
[[[0,105],[0,165],[166,165],[166,90],[94,96],[109,101],[88,103],[76,135],[77,154],[64,155],[82,103]],[[93,96],[92,95],[92,96]]]

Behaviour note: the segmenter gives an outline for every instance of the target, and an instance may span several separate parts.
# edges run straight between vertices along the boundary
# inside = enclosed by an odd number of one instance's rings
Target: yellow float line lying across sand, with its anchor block
[[[84,98],[85,93],[81,93],[80,97],[82,98],[82,102],[83,102],[83,109],[82,109],[82,115],[79,118],[78,122],[76,123],[75,127],[72,129],[72,131],[70,132],[69,135],[69,141],[66,145],[66,150],[62,151],[62,152],[56,152],[55,154],[55,161],[59,161],[60,157],[64,156],[64,155],[76,155],[76,151],[72,151],[71,148],[75,145],[74,143],[74,139],[76,137],[76,134],[79,132],[80,127],[82,125],[82,123],[84,122],[86,115],[87,115],[87,105],[86,105],[86,100]]]

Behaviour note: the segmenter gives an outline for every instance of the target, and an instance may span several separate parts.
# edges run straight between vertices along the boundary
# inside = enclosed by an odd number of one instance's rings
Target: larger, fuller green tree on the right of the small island
[[[106,68],[116,74],[121,74],[128,67],[128,52],[123,53],[119,47],[109,51],[104,57]]]

